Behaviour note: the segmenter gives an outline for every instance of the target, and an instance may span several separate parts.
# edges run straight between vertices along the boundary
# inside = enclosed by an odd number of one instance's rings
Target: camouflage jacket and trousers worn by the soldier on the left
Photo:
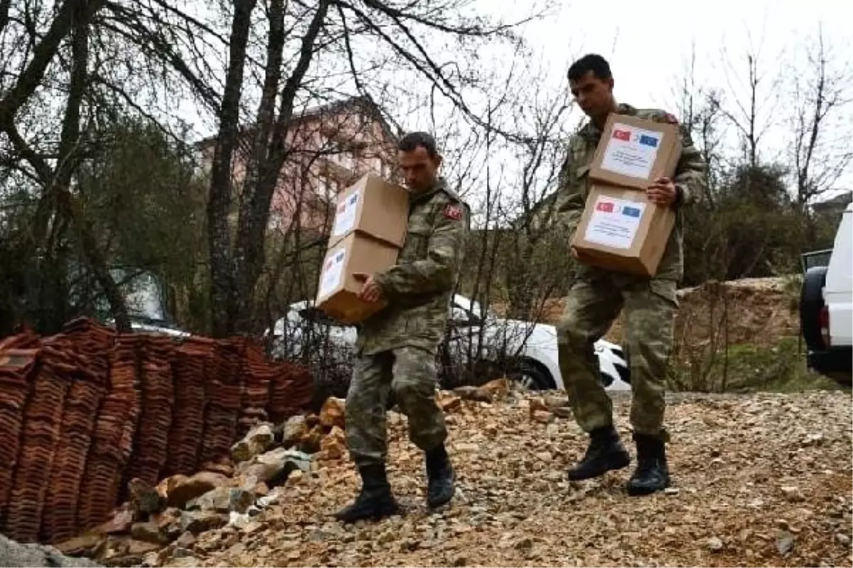
[[[435,403],[436,353],[444,339],[469,228],[467,205],[443,179],[411,196],[409,228],[397,265],[374,275],[388,307],[358,332],[358,360],[346,399],[346,435],[359,467],[386,457],[386,401],[409,418],[409,437],[421,450],[447,438]]]

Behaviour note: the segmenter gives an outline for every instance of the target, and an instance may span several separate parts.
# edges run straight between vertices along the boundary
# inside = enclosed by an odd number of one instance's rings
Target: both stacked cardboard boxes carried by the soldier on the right
[[[611,114],[589,169],[592,185],[572,239],[581,261],[654,276],[675,225],[674,209],[653,204],[646,188],[672,177],[681,158],[676,124]]]

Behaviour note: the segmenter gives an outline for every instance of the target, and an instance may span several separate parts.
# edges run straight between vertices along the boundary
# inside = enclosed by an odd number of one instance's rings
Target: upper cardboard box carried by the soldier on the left
[[[357,231],[402,247],[408,223],[409,192],[368,173],[340,192],[329,245]]]

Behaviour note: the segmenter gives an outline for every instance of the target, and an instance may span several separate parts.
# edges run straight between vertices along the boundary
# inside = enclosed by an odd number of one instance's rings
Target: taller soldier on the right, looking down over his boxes
[[[585,55],[568,71],[569,87],[589,123],[572,136],[560,170],[556,210],[570,236],[577,229],[589,192],[589,165],[611,112],[676,123],[670,113],[640,110],[617,104],[613,98],[610,65],[601,55]],[[577,424],[589,433],[583,460],[569,471],[569,479],[590,479],[625,468],[630,456],[613,427],[612,401],[595,364],[593,344],[619,313],[625,311],[625,350],[630,363],[632,401],[630,423],[637,467],[630,477],[630,495],[661,491],[670,484],[664,443],[665,373],[673,342],[678,303],[676,284],[683,276],[683,218],[681,209],[705,183],[705,163],[682,126],[682,155],[676,174],[653,181],[646,190],[655,204],[676,209],[676,227],[664,250],[658,273],[640,278],[581,265],[569,292],[566,311],[557,326],[560,373],[566,382]],[[572,250],[577,257],[577,253]]]

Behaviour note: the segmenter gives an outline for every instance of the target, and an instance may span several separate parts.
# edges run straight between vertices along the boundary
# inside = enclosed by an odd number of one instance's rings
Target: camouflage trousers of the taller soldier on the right
[[[666,368],[677,309],[676,282],[601,274],[570,290],[557,325],[560,374],[577,424],[585,432],[613,423],[594,343],[625,312],[624,350],[630,359],[630,423],[635,433],[668,439],[664,427]]]

